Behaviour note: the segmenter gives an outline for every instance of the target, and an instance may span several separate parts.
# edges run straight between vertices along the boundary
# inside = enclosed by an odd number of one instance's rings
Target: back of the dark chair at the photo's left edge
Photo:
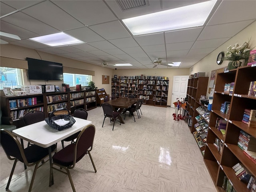
[[[14,160],[17,158],[20,162],[24,162],[24,159],[26,161],[20,142],[10,131],[1,129],[0,142],[8,159]]]

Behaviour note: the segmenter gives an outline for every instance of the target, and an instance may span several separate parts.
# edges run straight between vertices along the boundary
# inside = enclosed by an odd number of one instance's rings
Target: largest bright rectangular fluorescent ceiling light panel
[[[133,35],[202,26],[216,0],[146,14],[122,21]]]

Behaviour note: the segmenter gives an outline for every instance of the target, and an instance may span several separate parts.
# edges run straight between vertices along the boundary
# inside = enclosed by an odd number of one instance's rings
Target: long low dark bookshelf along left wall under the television
[[[10,106],[10,102],[14,106]],[[1,96],[2,116],[11,119],[11,123],[17,128],[24,126],[22,116],[29,110],[43,111],[45,117],[48,117],[52,110],[58,108],[67,108],[71,115],[78,108],[94,109],[96,108],[96,92],[95,90],[81,90],[26,96]]]

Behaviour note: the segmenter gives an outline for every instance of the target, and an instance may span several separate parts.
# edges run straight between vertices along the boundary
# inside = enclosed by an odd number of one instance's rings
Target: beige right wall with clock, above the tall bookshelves
[[[222,51],[226,52],[228,46],[230,45],[233,46],[236,43],[238,43],[239,45],[242,45],[244,44],[244,42],[248,42],[248,40],[250,40],[249,48],[256,49],[255,47],[256,46],[256,22],[253,22],[250,26],[242,30],[240,33],[236,34],[234,37],[232,37],[230,40],[222,44],[220,47],[218,47],[208,56],[200,60],[200,62],[196,63],[193,66],[193,71],[190,72],[190,74],[194,74],[196,72],[206,72],[206,76],[210,76],[210,73],[212,72],[212,70],[216,70],[216,69],[228,66],[228,61],[223,61],[221,65],[218,65],[216,63],[218,54]],[[208,81],[208,88],[209,88],[209,83],[210,83],[210,78]]]

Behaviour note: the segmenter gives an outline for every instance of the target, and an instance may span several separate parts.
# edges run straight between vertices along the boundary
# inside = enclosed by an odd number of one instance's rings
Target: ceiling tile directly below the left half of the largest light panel
[[[164,33],[135,36],[134,39],[140,46],[164,44]]]

